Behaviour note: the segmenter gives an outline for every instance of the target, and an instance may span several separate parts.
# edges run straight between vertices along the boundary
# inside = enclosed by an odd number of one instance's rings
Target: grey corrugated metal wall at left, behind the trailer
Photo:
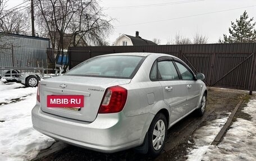
[[[44,67],[47,68],[49,39],[32,36],[0,33],[0,67]]]

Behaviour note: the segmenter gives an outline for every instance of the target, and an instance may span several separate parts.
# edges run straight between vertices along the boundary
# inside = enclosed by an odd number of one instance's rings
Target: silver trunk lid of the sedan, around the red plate
[[[58,76],[40,82],[40,106],[42,111],[56,116],[93,122],[97,117],[100,103],[110,86],[129,84],[130,79],[103,77]],[[83,95],[84,107],[79,111],[73,108],[47,107],[47,95]]]

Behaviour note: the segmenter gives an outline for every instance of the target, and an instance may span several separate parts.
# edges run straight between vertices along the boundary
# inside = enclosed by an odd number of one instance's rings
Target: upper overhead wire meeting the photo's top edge
[[[182,3],[191,3],[191,2],[200,2],[205,0],[189,0],[189,1],[180,1],[180,2],[170,2],[170,3],[157,3],[157,4],[145,4],[138,6],[120,6],[120,7],[106,7],[104,10],[118,10],[118,9],[130,9],[130,8],[145,8],[145,7],[157,7],[157,6],[166,6],[173,4],[182,4]]]

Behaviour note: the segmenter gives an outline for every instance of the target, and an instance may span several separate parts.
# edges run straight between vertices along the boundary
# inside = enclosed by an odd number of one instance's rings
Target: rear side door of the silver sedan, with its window
[[[170,123],[185,114],[186,88],[172,62],[171,57],[158,58],[150,73],[150,79],[162,85],[164,102],[170,107]]]

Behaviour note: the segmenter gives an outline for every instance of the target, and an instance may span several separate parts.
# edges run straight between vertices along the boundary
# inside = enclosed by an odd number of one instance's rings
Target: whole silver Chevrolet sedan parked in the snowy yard
[[[86,149],[113,153],[135,148],[156,157],[168,128],[193,111],[203,115],[203,79],[168,54],[93,57],[62,76],[40,81],[33,126]]]

